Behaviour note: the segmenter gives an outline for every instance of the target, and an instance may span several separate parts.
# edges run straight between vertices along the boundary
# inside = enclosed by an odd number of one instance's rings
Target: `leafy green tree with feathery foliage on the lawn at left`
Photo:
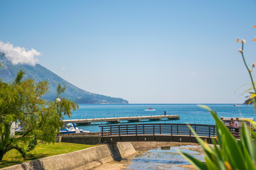
[[[18,72],[12,84],[0,80],[0,161],[4,154],[16,149],[23,158],[36,147],[38,140],[55,142],[55,136],[63,127],[63,116],[70,117],[78,105],[63,98],[65,86],[58,85],[55,101],[41,98],[48,91],[48,82],[36,83],[23,79],[24,72]],[[19,123],[23,132],[11,134],[11,124]]]

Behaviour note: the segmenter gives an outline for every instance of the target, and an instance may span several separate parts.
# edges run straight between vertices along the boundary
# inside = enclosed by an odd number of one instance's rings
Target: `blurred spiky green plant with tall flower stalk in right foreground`
[[[256,26],[255,26],[256,27]],[[239,39],[238,39],[239,42]],[[247,72],[250,75],[250,80],[252,87],[246,92],[250,92],[250,102],[253,103],[255,107],[255,98],[256,98],[256,88],[255,83],[252,78],[252,69],[249,69],[247,63],[245,62],[245,57],[243,54],[243,47],[245,40],[241,40],[242,49],[239,52],[242,55],[242,60],[245,64]],[[252,68],[255,67],[255,63],[252,63]],[[196,135],[196,140],[203,147],[205,154],[206,163],[200,162],[198,159],[191,157],[191,155],[180,152],[183,157],[188,159],[191,164],[196,169],[256,169],[256,133],[247,127],[245,123],[242,123],[242,128],[240,130],[240,140],[236,139],[228,128],[218,119],[217,113],[210,110],[207,106],[201,106],[210,111],[211,115],[215,120],[216,129],[217,129],[217,138],[212,140],[213,147],[209,147],[207,142],[204,142],[196,132],[191,128],[191,131]],[[252,125],[256,127],[256,123],[252,122]]]

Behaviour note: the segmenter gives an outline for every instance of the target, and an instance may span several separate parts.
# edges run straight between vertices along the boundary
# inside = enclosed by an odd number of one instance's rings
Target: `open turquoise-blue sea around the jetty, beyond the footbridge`
[[[217,111],[218,116],[233,118],[255,118],[253,106],[233,106],[233,104],[205,104]],[[155,111],[145,111],[148,108]],[[144,115],[180,115],[180,120],[149,121],[142,120],[140,123],[191,123],[214,125],[212,116],[208,111],[198,107],[197,104],[128,104],[128,105],[79,105],[79,110],[73,112],[71,119],[86,118],[115,118]],[[65,117],[65,119],[70,119]],[[128,123],[121,121],[121,123]],[[117,125],[115,123],[92,123],[91,125],[79,126],[82,130],[100,132],[100,125]],[[119,123],[118,123],[119,124]],[[132,123],[128,123],[132,124]]]

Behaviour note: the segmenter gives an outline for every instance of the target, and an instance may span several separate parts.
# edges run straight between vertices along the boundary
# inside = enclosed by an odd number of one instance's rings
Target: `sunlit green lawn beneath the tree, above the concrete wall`
[[[40,159],[43,157],[50,157],[57,154],[66,154],[69,152],[86,149],[88,147],[94,147],[95,145],[83,145],[74,143],[55,143],[55,144],[43,144],[39,143],[33,151],[28,152],[28,159],[23,159],[21,154],[15,149],[10,150],[4,155],[4,158],[0,162],[0,169],[6,166],[12,166],[15,164],[21,164],[33,159]]]

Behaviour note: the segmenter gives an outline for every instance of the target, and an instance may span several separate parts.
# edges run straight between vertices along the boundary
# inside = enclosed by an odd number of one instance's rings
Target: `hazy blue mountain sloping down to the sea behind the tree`
[[[1,53],[0,57],[0,79],[5,82],[12,82],[16,78],[16,74],[20,69],[26,73],[24,75],[24,79],[30,78],[34,79],[36,82],[38,81],[48,81],[49,92],[43,96],[47,100],[53,100],[56,96],[56,88],[58,84],[65,85],[66,90],[63,96],[74,101],[75,103],[97,103],[97,104],[127,104],[128,101],[122,98],[112,98],[110,96],[103,96],[100,94],[92,94],[88,91],[84,91],[79,89],[78,87],[70,84],[68,81],[65,81],[57,74],[50,72],[50,70],[41,66],[40,64],[36,64],[35,67],[28,64],[12,64],[10,61],[4,57],[4,54]]]

